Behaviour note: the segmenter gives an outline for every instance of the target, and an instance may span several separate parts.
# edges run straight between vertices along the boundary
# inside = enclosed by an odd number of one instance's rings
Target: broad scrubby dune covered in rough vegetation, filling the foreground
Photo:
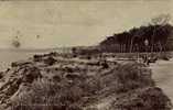
[[[45,65],[44,59],[51,59],[48,57],[40,56],[39,65],[34,59],[15,63],[3,73],[1,79],[10,79],[1,87],[1,105],[7,103],[6,108],[10,110],[100,110],[97,105],[105,100],[109,105],[101,110],[171,110],[170,99],[155,88],[151,70],[143,64],[106,62],[108,67],[105,68],[99,64],[91,65],[91,61],[60,62],[52,56],[56,61]],[[150,107],[145,107],[148,105]],[[137,109],[136,106],[142,107]],[[153,109],[154,106],[161,109]]]

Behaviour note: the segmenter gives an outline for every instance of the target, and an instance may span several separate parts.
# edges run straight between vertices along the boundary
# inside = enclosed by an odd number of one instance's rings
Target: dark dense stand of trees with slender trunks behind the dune
[[[110,52],[167,51],[173,50],[171,45],[172,32],[173,26],[171,24],[133,28],[129,31],[107,36],[100,43],[100,46],[102,50]]]

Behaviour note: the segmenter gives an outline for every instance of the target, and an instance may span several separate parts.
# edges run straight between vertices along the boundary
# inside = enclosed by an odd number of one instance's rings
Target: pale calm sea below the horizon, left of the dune
[[[25,61],[35,54],[51,52],[67,53],[69,48],[0,48],[0,72],[9,68],[13,62]]]

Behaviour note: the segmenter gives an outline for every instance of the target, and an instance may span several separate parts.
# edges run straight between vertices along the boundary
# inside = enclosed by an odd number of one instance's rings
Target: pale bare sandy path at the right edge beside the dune
[[[162,88],[173,102],[173,59],[169,62],[158,61],[150,68],[153,72],[152,78],[155,80],[156,86]]]

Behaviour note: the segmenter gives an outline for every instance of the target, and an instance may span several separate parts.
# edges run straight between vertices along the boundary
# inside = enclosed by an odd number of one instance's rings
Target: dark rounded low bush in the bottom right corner
[[[143,88],[119,97],[110,110],[171,110],[171,100],[160,88]]]

